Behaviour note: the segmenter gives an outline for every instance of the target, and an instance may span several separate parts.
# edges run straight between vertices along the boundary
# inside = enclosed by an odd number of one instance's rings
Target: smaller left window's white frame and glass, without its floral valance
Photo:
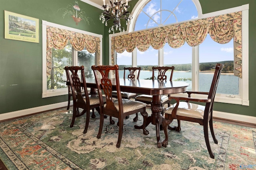
[[[98,37],[100,40],[100,44],[98,47],[100,48],[100,54],[96,55],[95,53],[89,53],[86,48],[82,51],[76,51],[70,44],[70,41],[62,49],[51,48],[51,70],[47,75],[47,41],[46,41],[46,29],[47,26],[64,29],[68,31],[74,31],[76,33],[84,34],[84,35],[92,35],[92,37]],[[65,66],[81,66],[83,65],[85,68],[86,78],[93,77],[93,73],[91,70],[92,65],[102,64],[102,35],[97,35],[94,33],[89,33],[86,31],[82,31],[79,29],[74,29],[70,27],[65,27],[62,25],[50,23],[47,21],[42,21],[42,37],[43,37],[43,92],[42,98],[52,97],[52,96],[60,96],[66,95],[68,93],[68,88],[66,83],[66,73],[64,71]],[[97,50],[97,49],[96,49]]]

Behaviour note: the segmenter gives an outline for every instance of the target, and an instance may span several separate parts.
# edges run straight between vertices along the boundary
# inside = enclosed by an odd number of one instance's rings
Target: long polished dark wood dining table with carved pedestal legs
[[[116,80],[114,78],[110,78],[112,82],[113,90],[116,90]],[[161,81],[161,80],[144,80],[144,79],[124,79],[120,78],[120,90],[122,92],[132,92],[137,94],[148,94],[152,95],[152,105],[151,111],[152,114],[148,116],[146,121],[146,127],[152,123],[156,125],[156,140],[158,148],[161,147],[160,141],[160,125],[162,125],[162,121],[164,117],[162,115],[163,107],[161,103],[161,95],[168,94],[178,94],[184,93],[187,91],[188,86],[190,84],[182,81]],[[68,85],[69,82],[66,82]],[[91,94],[96,92],[96,81],[95,78],[86,78],[86,86],[87,88],[91,88]],[[95,89],[95,90],[94,90]],[[134,126],[136,129],[142,129],[142,125]]]

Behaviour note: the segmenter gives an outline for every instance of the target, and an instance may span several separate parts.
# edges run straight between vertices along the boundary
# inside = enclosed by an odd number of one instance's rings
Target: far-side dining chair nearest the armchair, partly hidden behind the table
[[[168,66],[159,66],[159,67],[152,67],[152,80],[154,80],[155,78],[155,70],[158,70],[158,76],[157,76],[157,80],[159,81],[166,81],[167,80],[167,76],[166,76],[166,72],[168,70],[171,70],[171,74],[170,74],[170,81],[172,81],[172,76],[173,76],[173,72],[174,72],[174,66],[168,67]],[[162,107],[164,107],[165,104],[168,104],[168,107],[170,107],[170,102],[168,100],[168,97],[170,95],[166,96],[166,95],[161,95],[161,102],[162,102]],[[135,97],[136,101],[139,102],[144,102],[146,104],[150,104],[152,102],[152,95],[146,95],[146,94],[141,94]],[[163,109],[164,110],[164,109]],[[164,112],[163,112],[164,113]],[[162,113],[162,115],[163,115]]]

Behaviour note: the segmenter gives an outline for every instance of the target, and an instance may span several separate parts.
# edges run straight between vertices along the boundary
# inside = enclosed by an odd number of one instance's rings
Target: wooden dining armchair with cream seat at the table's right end
[[[164,129],[164,135],[165,139],[162,142],[162,146],[166,147],[168,145],[168,132],[167,129],[175,129],[177,132],[180,132],[180,121],[190,121],[190,122],[196,122],[200,125],[203,125],[204,129],[204,139],[206,142],[206,147],[208,149],[208,152],[210,154],[211,158],[214,158],[214,153],[212,152],[210,142],[209,142],[209,136],[208,136],[208,123],[210,126],[210,131],[212,134],[212,138],[214,143],[218,144],[218,140],[216,139],[214,135],[213,125],[212,125],[212,108],[214,104],[214,98],[221,74],[221,70],[223,68],[223,64],[216,64],[214,76],[212,79],[212,84],[210,87],[209,92],[192,92],[187,91],[185,93],[188,94],[188,98],[186,97],[170,97],[169,100],[174,99],[176,100],[176,104],[173,104],[172,106],[168,107],[164,113],[165,113],[165,119],[162,122],[162,126]],[[207,98],[191,98],[191,94],[203,94],[208,95]],[[185,102],[181,102],[181,100],[185,100]],[[200,104],[194,104],[191,102],[200,102],[204,105]],[[170,127],[170,123],[172,123],[173,119],[178,120],[178,127]]]

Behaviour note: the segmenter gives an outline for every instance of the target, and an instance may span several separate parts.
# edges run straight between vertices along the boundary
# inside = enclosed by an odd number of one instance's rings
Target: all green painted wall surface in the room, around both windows
[[[250,106],[215,103],[215,111],[256,117],[256,0],[199,0],[203,14],[249,4],[249,100]],[[103,35],[103,64],[109,64],[108,27],[99,21],[101,10],[82,1],[94,23],[74,24],[72,18],[62,18],[59,8],[65,8],[70,0],[0,0],[0,113],[44,106],[67,101],[67,96],[42,98],[42,20],[74,27]],[[138,0],[129,1],[130,11]],[[4,39],[4,10],[40,19],[40,43]],[[18,84],[18,86],[10,86]],[[17,115],[18,116],[18,115]]]

